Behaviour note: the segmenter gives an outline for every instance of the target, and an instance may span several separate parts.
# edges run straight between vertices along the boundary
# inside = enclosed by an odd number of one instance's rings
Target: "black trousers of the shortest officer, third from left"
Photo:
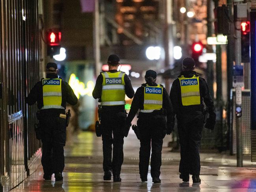
[[[163,138],[166,134],[166,120],[164,116],[160,118],[154,116],[142,117],[139,114],[137,125],[140,130],[140,177],[147,177],[148,175],[151,147],[151,177],[159,177],[162,164]]]

